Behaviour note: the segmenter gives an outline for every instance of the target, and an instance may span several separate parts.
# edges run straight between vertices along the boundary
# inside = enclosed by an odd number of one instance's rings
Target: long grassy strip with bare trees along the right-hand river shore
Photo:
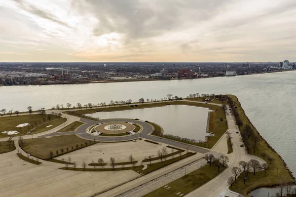
[[[259,135],[257,129],[251,123],[249,118],[245,115],[245,112],[242,109],[241,104],[239,103],[237,97],[234,95],[228,95],[228,97],[230,97],[233,100],[233,102],[235,103],[235,106],[237,107],[236,110],[239,114],[239,118],[241,119],[243,124],[249,124],[254,129],[255,135],[257,135],[260,138],[260,141],[258,143],[258,147],[257,147],[255,154],[253,153],[253,150],[250,151],[249,154],[255,155],[259,158],[262,158],[260,155],[261,155],[261,153],[264,152],[268,156],[270,154],[271,158],[274,159],[274,161],[272,161],[272,163],[270,164],[269,161],[267,160],[267,158],[265,157],[265,161],[268,163],[268,168],[266,170],[267,173],[264,173],[264,170],[263,170],[263,172],[262,171],[256,172],[255,176],[251,175],[251,173],[250,173],[250,176],[249,176],[248,180],[246,181],[245,185],[243,182],[243,174],[241,174],[238,177],[237,183],[235,185],[233,185],[233,191],[240,193],[242,195],[248,196],[247,195],[248,192],[250,192],[256,188],[259,188],[259,187],[273,186],[276,184],[281,184],[282,180],[285,180],[285,182],[292,182],[293,178],[290,175],[287,168],[285,167],[284,162],[282,161],[280,156],[275,151],[273,151],[272,148]],[[279,177],[277,177],[277,168],[279,170]]]

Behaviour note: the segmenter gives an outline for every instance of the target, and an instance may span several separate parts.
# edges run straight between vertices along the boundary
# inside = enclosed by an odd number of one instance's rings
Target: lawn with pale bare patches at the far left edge
[[[54,115],[23,115],[23,116],[13,116],[13,117],[0,117],[0,137],[8,137],[3,131],[14,130],[19,133],[13,136],[25,135],[32,128],[48,122],[49,120],[58,119],[59,117]],[[19,124],[29,123],[30,125],[24,127],[15,127]]]

